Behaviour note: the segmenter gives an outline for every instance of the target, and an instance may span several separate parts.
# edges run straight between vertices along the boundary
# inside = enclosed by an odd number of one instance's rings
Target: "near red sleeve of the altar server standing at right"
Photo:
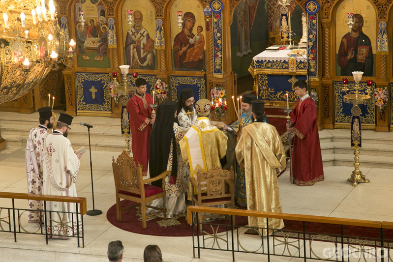
[[[302,103],[304,103],[304,105],[300,108],[302,114],[300,114],[301,112],[298,113],[295,126],[293,127],[294,133],[300,139],[303,139],[306,134],[310,132],[312,124],[317,119],[317,107],[314,103],[314,100],[309,97]]]

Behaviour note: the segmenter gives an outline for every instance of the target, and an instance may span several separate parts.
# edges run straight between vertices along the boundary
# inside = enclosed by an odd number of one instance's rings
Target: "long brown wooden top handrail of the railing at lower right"
[[[380,221],[336,218],[336,217],[326,217],[326,216],[273,213],[273,212],[263,212],[263,211],[255,211],[255,210],[242,210],[242,209],[233,209],[233,208],[218,208],[218,207],[195,206],[195,205],[190,205],[187,207],[188,224],[192,224],[192,212],[204,212],[204,213],[214,213],[214,214],[234,215],[234,216],[236,215],[236,216],[251,216],[251,217],[267,217],[267,218],[277,218],[277,219],[336,224],[336,225],[359,226],[359,227],[369,227],[369,228],[382,227],[382,222]],[[389,228],[388,226],[391,226],[393,228],[392,222],[385,222],[385,224],[386,224],[386,228]]]

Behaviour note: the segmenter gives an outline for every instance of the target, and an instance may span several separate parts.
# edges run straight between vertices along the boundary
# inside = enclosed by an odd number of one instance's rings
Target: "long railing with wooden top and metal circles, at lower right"
[[[200,223],[198,223],[198,215],[199,213],[213,213],[213,214],[222,214],[222,215],[229,215],[231,217],[231,224],[219,224],[220,221],[214,221],[211,223],[205,223],[203,222],[202,225],[205,227],[209,225],[209,227],[212,226],[217,226],[216,231],[218,230],[218,227],[226,227],[227,231],[227,238],[226,240],[223,239],[222,236],[221,238],[214,233],[207,233],[205,231],[200,232],[198,230]],[[263,241],[267,241],[267,250],[264,250],[262,252],[249,252],[241,248],[239,248],[239,242],[238,242],[238,248],[235,248],[235,243],[234,243],[234,231],[237,231],[237,238],[239,239],[240,233],[239,233],[239,228],[250,228],[255,230],[256,232],[263,232],[263,230],[266,231],[272,231],[272,229],[264,227],[264,228],[253,228],[253,227],[248,227],[248,226],[239,226],[239,225],[234,225],[232,223],[233,221],[233,216],[243,216],[243,217],[259,217],[259,218],[266,218],[267,219],[267,224],[269,223],[270,219],[283,219],[283,220],[292,220],[292,221],[299,221],[302,222],[302,230],[300,231],[295,231],[295,230],[285,230],[285,228],[281,230],[274,230],[272,235],[267,238],[263,238],[261,247],[263,245]],[[196,218],[196,219],[195,219]],[[237,219],[238,221],[238,219]],[[364,254],[372,256],[372,259],[366,260],[365,258],[364,261],[393,261],[393,254],[391,255],[389,252],[393,248],[393,239],[387,239],[387,232],[389,230],[393,229],[393,222],[386,222],[386,221],[368,221],[368,220],[360,220],[360,219],[348,219],[348,218],[335,218],[335,217],[324,217],[324,216],[311,216],[311,215],[298,215],[298,214],[286,214],[286,213],[272,213],[272,212],[262,212],[262,211],[255,211],[255,210],[242,210],[242,209],[231,209],[231,208],[216,208],[216,207],[206,207],[206,206],[188,206],[187,207],[187,222],[188,224],[193,225],[193,236],[194,236],[194,227],[196,226],[196,234],[197,234],[197,246],[195,245],[195,241],[193,239],[193,250],[194,250],[194,257],[195,257],[195,249],[198,250],[198,258],[200,258],[200,249],[210,249],[210,250],[223,250],[220,247],[214,248],[214,241],[216,241],[217,246],[218,246],[218,241],[217,239],[221,239],[224,242],[227,242],[228,248],[224,249],[225,251],[230,251],[233,254],[233,261],[235,261],[235,252],[247,252],[247,253],[255,253],[255,254],[263,254],[268,256],[268,260],[270,261],[270,256],[286,256],[286,257],[296,257],[296,258],[302,258],[304,261],[307,259],[312,259],[312,260],[329,260],[329,261],[349,261],[349,257],[353,256],[354,253],[359,252],[362,256]],[[332,234],[332,233],[313,233],[307,231],[306,228],[306,222],[315,222],[315,223],[324,223],[324,224],[333,224],[333,225],[340,225],[340,234]],[[307,224],[309,225],[309,224]],[[373,228],[375,229],[374,233],[377,235],[379,233],[379,237],[364,237],[364,236],[354,236],[354,235],[344,235],[343,227],[345,226],[357,226],[357,227],[365,227],[365,228]],[[212,227],[213,229],[213,227]],[[385,230],[385,231],[384,231]],[[385,233],[384,233],[385,232]],[[229,242],[230,242],[230,237],[228,237],[228,233],[231,233],[229,235],[232,236],[232,249],[229,248]],[[392,232],[389,232],[389,237],[391,237]],[[327,235],[330,237],[330,241],[332,241],[335,244],[335,253],[333,254],[332,258],[320,258],[315,253],[312,251],[311,247],[311,242],[314,240],[315,235]],[[223,234],[225,235],[225,234]],[[236,233],[235,233],[236,235]],[[259,235],[262,237],[264,236],[263,233],[259,233]],[[209,238],[214,238],[212,242],[212,247],[207,247],[205,242],[203,242],[203,245],[200,244],[200,236],[202,237],[202,240],[205,241],[205,236],[208,236],[206,239]],[[266,235],[265,235],[266,236]],[[279,238],[277,236],[281,236],[282,238]],[[277,254],[277,251],[274,250],[275,246],[278,245],[285,245],[286,247],[289,246],[294,246],[293,244],[290,244],[292,242],[288,242],[288,238],[297,238],[299,241],[299,246],[297,248],[297,253],[299,255],[294,256],[291,255],[284,255],[285,249],[282,254]],[[280,239],[280,240],[278,240]],[[284,240],[282,240],[284,239]],[[318,240],[318,238],[316,238]],[[280,242],[280,244],[274,245],[274,240],[277,242]],[[301,241],[302,240],[302,241]],[[306,252],[306,240],[309,242],[309,255]],[[351,240],[351,241],[350,241]],[[239,241],[239,240],[238,240]],[[327,241],[327,240],[325,240]],[[235,239],[236,242],[236,239]],[[302,242],[303,248],[301,248],[300,243]],[[284,243],[284,244],[283,244]],[[355,244],[354,244],[355,243]],[[273,248],[272,248],[273,244]],[[270,245],[270,248],[269,248]],[[354,247],[354,245],[359,245],[360,248]],[[369,248],[365,250],[365,247]],[[349,249],[354,248],[356,249],[355,251],[349,251]],[[243,250],[242,250],[243,249]],[[346,252],[346,249],[348,249],[348,252]],[[371,250],[371,251],[370,251]],[[289,249],[288,249],[289,252]],[[301,254],[302,252],[302,254]],[[290,253],[290,252],[289,252]],[[311,256],[311,253],[314,256]],[[375,254],[375,255],[374,255]],[[334,260],[335,257],[335,260]],[[348,258],[348,260],[345,260]],[[351,261],[353,260],[353,257],[351,257]],[[357,261],[357,260],[355,260]]]

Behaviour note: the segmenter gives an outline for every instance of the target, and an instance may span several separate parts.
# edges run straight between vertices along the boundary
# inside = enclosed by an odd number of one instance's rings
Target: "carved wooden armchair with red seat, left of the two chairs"
[[[112,159],[113,175],[115,177],[116,185],[116,213],[118,221],[121,221],[121,211],[132,208],[136,205],[141,206],[142,213],[142,227],[146,228],[146,219],[153,215],[163,212],[164,219],[166,219],[166,207],[165,197],[166,192],[164,190],[164,179],[169,171],[163,172],[161,175],[156,177],[143,180],[142,165],[136,165],[134,159],[127,154],[124,150],[115,162],[115,158]],[[162,180],[162,188],[152,186],[149,182]],[[146,205],[155,199],[162,198],[163,208],[157,208],[154,206]],[[121,209],[120,200],[125,199],[136,202],[137,204],[128,206]],[[146,215],[146,206],[157,209],[158,211],[150,215]]]

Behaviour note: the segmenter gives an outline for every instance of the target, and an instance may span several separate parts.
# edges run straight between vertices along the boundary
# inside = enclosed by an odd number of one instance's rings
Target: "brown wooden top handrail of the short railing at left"
[[[39,195],[39,194],[24,194],[24,193],[13,193],[13,192],[0,192],[0,198],[79,203],[81,215],[86,214],[87,211],[86,198],[62,197],[62,196]]]

